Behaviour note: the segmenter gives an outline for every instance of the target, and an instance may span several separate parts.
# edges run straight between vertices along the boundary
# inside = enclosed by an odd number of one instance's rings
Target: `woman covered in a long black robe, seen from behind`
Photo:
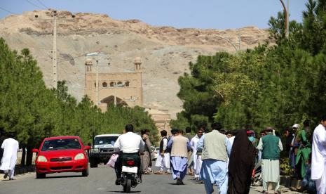
[[[249,193],[255,155],[256,148],[249,141],[246,131],[237,131],[229,160],[228,193]]]

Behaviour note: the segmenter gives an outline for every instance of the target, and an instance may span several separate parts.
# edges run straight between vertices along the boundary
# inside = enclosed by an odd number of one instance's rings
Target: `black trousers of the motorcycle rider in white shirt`
[[[116,159],[116,163],[114,164],[114,169],[116,171],[116,178],[121,178],[122,173],[122,162],[123,159],[127,157],[132,157],[135,160],[135,163],[137,164],[138,171],[137,175],[142,179],[142,164],[140,163],[140,155],[138,153],[119,153],[118,158]]]

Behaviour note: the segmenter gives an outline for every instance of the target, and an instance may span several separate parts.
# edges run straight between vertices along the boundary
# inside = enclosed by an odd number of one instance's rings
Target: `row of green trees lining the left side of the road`
[[[137,131],[150,129],[152,141],[157,140],[156,126],[143,108],[110,106],[101,112],[87,96],[77,103],[67,91],[65,81],[47,89],[29,49],[19,55],[0,38],[0,127],[14,132],[23,150],[27,148],[22,164],[32,164],[32,148],[49,136],[81,136],[91,143],[94,135],[121,134],[131,123]]]

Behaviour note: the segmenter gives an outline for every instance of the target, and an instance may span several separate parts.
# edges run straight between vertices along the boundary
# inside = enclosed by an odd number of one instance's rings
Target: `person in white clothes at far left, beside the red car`
[[[1,149],[4,149],[4,155],[2,156],[0,170],[4,171],[4,179],[6,179],[9,175],[9,180],[13,180],[17,161],[17,152],[19,149],[18,141],[13,139],[13,134],[9,134],[9,138],[4,140],[1,145]]]

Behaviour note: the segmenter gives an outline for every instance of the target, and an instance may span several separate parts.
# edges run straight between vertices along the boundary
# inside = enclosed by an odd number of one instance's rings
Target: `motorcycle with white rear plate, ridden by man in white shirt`
[[[133,157],[125,157],[122,162],[121,185],[123,192],[130,193],[130,188],[135,188],[142,180],[137,176],[137,162]]]

